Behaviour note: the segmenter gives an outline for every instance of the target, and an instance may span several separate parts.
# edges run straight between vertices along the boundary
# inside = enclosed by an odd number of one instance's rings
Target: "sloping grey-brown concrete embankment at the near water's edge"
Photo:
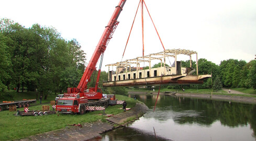
[[[108,117],[108,122],[97,121],[84,123],[82,127],[72,126],[70,128],[29,136],[20,140],[88,140],[101,136],[100,134],[113,130],[116,127],[124,126],[129,123],[127,120],[130,117],[136,117],[138,119],[147,111],[147,105],[137,103],[135,107],[126,112]]]

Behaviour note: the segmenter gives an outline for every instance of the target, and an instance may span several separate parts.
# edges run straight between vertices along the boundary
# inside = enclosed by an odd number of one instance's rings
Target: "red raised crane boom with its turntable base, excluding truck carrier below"
[[[126,0],[120,0],[118,5],[116,6],[116,9],[110,18],[101,39],[99,39],[99,42],[96,46],[96,49],[91,57],[91,60],[89,64],[87,65],[84,74],[80,80],[79,85],[76,88],[68,88],[68,92],[64,93],[64,95],[73,95],[77,96],[77,94],[80,94],[80,97],[87,97],[88,99],[101,99],[102,98],[102,92],[101,89],[98,89],[98,81],[99,81],[99,75],[101,74],[101,65],[103,60],[104,51],[106,50],[107,44],[109,40],[112,38],[113,33],[115,32],[115,29],[119,23],[117,21],[118,16],[120,15],[121,11],[123,10],[123,7],[125,5]],[[98,75],[97,80],[94,88],[89,88],[87,90],[87,84],[90,81],[90,77],[92,76],[92,73],[94,70],[96,70],[96,64],[99,60],[99,57],[102,56],[101,62],[99,64],[98,69]],[[97,92],[99,90],[99,92]]]

